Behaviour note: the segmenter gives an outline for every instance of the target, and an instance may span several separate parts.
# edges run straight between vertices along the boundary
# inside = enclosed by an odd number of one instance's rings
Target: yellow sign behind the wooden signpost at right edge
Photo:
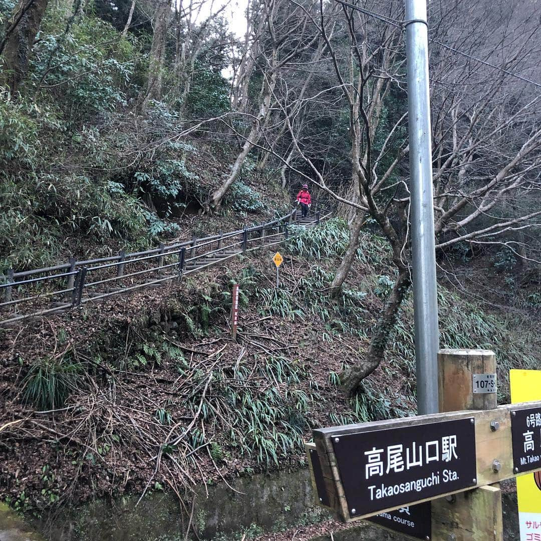
[[[511,403],[541,400],[541,370],[510,370]],[[541,539],[539,472],[517,477],[520,541]]]

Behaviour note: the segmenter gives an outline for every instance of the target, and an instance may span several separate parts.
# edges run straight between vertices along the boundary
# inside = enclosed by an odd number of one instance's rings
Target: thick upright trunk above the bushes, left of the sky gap
[[[147,93],[143,100],[143,109],[149,100],[160,100],[162,97],[162,72],[165,60],[166,37],[171,15],[170,0],[162,0],[154,14],[154,35],[150,48],[148,66]]]

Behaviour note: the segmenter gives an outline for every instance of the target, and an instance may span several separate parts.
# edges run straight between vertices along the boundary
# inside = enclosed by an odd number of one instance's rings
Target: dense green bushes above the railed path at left
[[[61,6],[47,10],[20,95],[0,91],[0,274],[167,241],[181,233],[177,216],[201,208],[227,167],[196,141],[170,136],[207,107],[205,88],[223,109],[219,71],[198,63],[186,103],[150,101],[142,111],[148,36],[123,37],[90,12],[66,20]],[[254,171],[248,160],[223,212],[265,209],[249,186]]]

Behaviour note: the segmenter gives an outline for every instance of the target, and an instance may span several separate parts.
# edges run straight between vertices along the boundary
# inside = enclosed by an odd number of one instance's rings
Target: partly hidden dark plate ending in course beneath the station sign
[[[366,520],[390,530],[405,533],[415,539],[432,537],[432,506],[430,502],[400,507],[396,511],[379,513]]]

